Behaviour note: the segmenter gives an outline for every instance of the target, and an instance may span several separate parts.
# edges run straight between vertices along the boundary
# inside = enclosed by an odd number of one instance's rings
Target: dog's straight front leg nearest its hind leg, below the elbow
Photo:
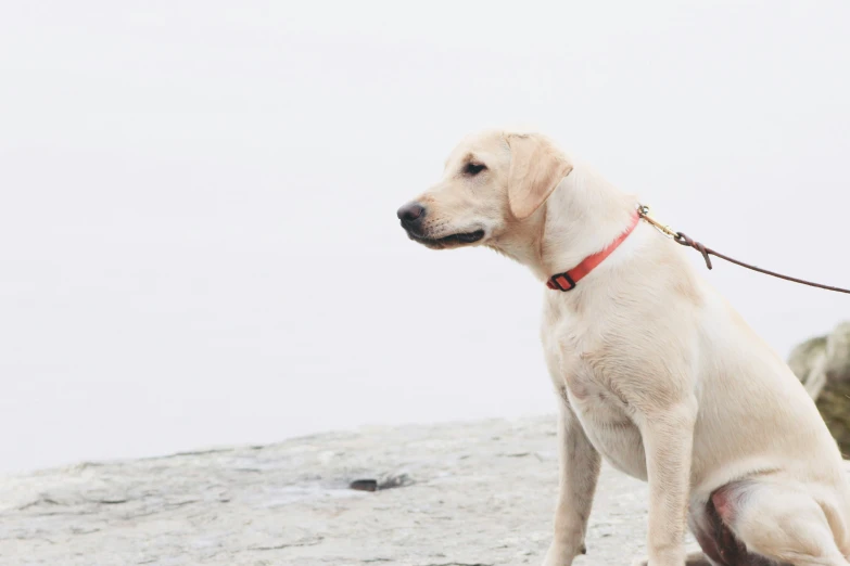
[[[649,566],[685,564],[685,525],[696,402],[654,409],[636,419],[649,480]]]

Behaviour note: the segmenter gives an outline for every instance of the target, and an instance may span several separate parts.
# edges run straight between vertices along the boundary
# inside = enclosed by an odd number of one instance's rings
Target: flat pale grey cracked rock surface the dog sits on
[[[555,417],[546,416],[364,428],[8,476],[0,564],[540,564],[557,467]],[[386,489],[350,489],[356,479]],[[604,468],[576,566],[630,564],[645,536],[646,486]]]

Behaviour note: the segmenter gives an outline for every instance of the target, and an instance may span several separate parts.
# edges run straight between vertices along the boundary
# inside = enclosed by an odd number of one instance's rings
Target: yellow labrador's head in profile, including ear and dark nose
[[[407,235],[434,249],[493,244],[543,205],[572,166],[546,138],[470,136],[446,160],[443,178],[398,209]]]

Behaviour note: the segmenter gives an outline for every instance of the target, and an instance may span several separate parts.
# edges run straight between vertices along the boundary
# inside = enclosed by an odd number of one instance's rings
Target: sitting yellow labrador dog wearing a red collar
[[[546,138],[497,131],[398,210],[416,242],[491,247],[548,287],[561,463],[545,564],[584,552],[601,458],[649,483],[637,564],[850,564],[850,489],[811,398],[636,209]],[[686,554],[686,526],[702,552]]]

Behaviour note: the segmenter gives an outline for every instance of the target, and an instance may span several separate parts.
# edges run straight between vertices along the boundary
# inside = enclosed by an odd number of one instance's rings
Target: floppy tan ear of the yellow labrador
[[[549,197],[572,165],[541,136],[510,133],[506,138],[510,146],[508,204],[513,217],[523,220]]]

